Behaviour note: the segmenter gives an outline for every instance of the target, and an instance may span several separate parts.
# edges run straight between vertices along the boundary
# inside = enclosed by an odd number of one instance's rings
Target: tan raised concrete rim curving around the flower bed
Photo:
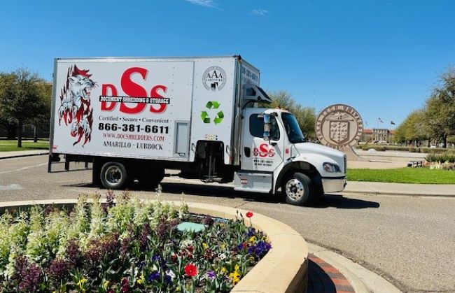
[[[42,201],[7,201],[0,203],[0,210],[15,206],[34,204],[73,204],[76,199]],[[174,206],[178,201],[166,201]],[[188,203],[190,213],[208,214],[214,217],[235,219],[246,210],[215,206],[207,203]],[[294,229],[271,217],[254,213],[251,224],[267,234],[272,250],[249,271],[231,292],[307,292],[308,246],[304,238]]]

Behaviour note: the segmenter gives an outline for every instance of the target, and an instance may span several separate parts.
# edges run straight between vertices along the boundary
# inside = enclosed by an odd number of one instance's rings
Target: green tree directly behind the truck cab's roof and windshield
[[[276,90],[267,93],[272,99],[272,103],[264,104],[262,106],[269,108],[279,108],[288,110],[295,115],[300,129],[307,139],[316,137],[314,133],[314,125],[316,124],[316,114],[314,108],[304,107],[297,103],[292,95],[286,90]]]

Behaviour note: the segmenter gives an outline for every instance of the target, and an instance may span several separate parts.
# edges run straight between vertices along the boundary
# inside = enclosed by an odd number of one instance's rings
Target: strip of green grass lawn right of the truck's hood
[[[348,169],[348,181],[455,184],[455,171],[428,168]]]

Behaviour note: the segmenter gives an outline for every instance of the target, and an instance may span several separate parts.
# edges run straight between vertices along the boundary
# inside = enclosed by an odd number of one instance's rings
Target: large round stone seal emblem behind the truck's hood
[[[344,150],[356,145],[363,132],[363,120],[351,106],[328,106],[316,120],[316,136],[330,148]]]

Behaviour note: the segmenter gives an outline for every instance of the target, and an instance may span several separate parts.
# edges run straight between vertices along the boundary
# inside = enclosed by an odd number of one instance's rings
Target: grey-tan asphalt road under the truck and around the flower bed
[[[47,156],[0,160],[0,200],[77,198],[103,192],[91,170],[47,173]],[[57,164],[55,170],[63,170]],[[281,220],[318,245],[379,273],[406,292],[455,292],[455,198],[325,195],[309,207],[223,185],[166,178],[165,199],[235,206]],[[133,190],[154,198],[151,190]]]

